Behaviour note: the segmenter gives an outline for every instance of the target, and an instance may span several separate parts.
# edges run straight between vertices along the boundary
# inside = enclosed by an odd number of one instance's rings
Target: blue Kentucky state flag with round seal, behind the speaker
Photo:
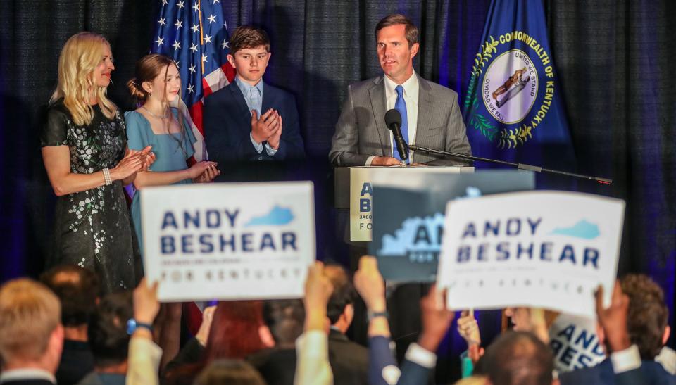
[[[542,0],[493,0],[482,42],[462,106],[472,153],[575,171]]]

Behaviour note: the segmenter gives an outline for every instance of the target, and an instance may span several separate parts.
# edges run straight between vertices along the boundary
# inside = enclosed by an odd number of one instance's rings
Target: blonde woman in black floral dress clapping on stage
[[[127,150],[125,121],[106,97],[114,69],[104,37],[70,37],[58,59],[58,85],[40,138],[58,196],[51,265],[96,272],[104,293],[132,289],[142,274],[123,185],[154,160],[149,147]]]

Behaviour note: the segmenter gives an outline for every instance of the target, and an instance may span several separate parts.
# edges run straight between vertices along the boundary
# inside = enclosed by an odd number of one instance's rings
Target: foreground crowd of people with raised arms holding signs
[[[221,301],[204,308],[199,331],[180,350],[163,348],[158,284],[104,294],[99,276],[54,267],[39,282],[0,287],[0,384],[430,384],[437,348],[456,312],[434,285],[420,301],[422,329],[401,362],[393,354],[385,284],[375,258],[350,278],[339,265],[308,269],[301,299]],[[346,331],[359,298],[368,308],[368,346]],[[659,360],[668,339],[663,291],[644,275],[616,282],[611,305],[596,292],[606,360],[558,373],[549,310],[505,309],[513,327],[484,346],[471,312],[457,332],[470,369],[456,384],[675,384],[674,362]],[[179,333],[180,334],[180,333]],[[169,343],[170,345],[171,343]],[[659,362],[658,362],[659,361]]]

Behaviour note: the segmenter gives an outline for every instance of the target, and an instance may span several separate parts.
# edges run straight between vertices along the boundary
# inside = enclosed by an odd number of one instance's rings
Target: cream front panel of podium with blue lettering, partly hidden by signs
[[[373,183],[407,184],[426,174],[474,172],[473,167],[352,167],[350,168],[350,241],[370,242],[373,230]]]

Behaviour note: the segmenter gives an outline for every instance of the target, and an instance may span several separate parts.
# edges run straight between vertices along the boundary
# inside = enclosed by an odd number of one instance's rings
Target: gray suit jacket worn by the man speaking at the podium
[[[472,150],[458,106],[458,94],[423,79],[417,73],[415,76],[418,76],[420,93],[418,126],[415,143],[412,144],[471,155]],[[329,153],[334,166],[360,166],[366,164],[369,156],[390,156],[390,131],[385,125],[386,108],[382,76],[349,86]],[[469,165],[470,161],[414,152],[411,163]]]

